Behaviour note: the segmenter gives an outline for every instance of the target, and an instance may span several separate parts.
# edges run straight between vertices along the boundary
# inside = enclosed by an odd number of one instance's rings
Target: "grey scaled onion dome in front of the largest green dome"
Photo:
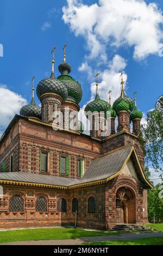
[[[37,85],[37,97],[41,99],[43,94],[54,93],[61,96],[62,100],[67,99],[65,84],[55,78],[45,78]]]

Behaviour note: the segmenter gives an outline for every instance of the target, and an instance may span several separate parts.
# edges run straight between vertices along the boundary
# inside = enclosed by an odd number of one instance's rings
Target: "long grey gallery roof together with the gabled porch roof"
[[[71,189],[108,182],[122,173],[129,158],[134,163],[140,181],[147,188],[153,188],[146,178],[134,146],[123,147],[92,160],[82,179],[26,172],[0,173],[0,184]]]

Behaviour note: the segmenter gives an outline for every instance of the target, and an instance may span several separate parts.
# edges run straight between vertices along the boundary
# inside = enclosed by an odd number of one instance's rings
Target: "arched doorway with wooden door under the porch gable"
[[[116,192],[116,223],[136,222],[135,194],[128,187],[121,187]]]

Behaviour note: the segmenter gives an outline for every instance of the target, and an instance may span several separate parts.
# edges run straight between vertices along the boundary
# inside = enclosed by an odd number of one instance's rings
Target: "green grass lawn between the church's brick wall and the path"
[[[90,231],[74,228],[38,228],[0,231],[0,243],[27,241],[27,240],[58,240],[76,239],[86,236],[117,235],[120,232],[113,231]]]

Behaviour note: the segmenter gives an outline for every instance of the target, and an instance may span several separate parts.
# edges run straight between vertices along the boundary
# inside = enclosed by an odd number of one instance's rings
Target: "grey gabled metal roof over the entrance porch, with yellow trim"
[[[106,182],[115,178],[122,173],[123,167],[130,157],[135,162],[134,166],[136,166],[137,172],[139,172],[141,182],[147,185],[147,187],[153,188],[143,172],[134,145],[112,150],[109,153],[96,157],[92,160],[90,167],[86,170],[79,183],[84,184],[99,180]]]

